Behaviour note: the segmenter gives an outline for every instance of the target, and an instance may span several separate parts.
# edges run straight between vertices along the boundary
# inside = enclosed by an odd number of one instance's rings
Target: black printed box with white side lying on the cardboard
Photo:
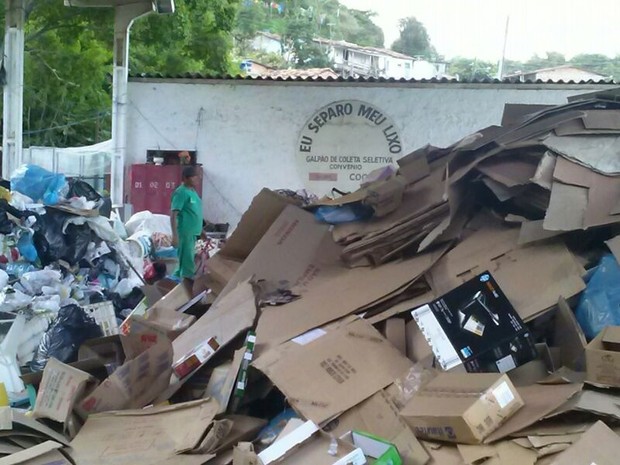
[[[411,315],[444,370],[504,373],[537,356],[530,331],[488,272]]]

